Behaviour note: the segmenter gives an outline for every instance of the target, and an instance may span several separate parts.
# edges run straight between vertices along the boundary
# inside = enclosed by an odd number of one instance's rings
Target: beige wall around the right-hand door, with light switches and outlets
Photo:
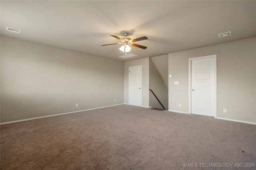
[[[188,59],[214,54],[217,55],[217,117],[255,123],[256,37],[170,53],[169,109],[188,112]],[[174,85],[174,81],[179,81],[179,85]],[[227,113],[223,113],[223,108]]]

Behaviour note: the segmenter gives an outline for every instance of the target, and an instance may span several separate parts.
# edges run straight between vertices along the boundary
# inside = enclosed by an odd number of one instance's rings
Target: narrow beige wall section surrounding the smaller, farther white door
[[[149,107],[149,58],[124,62],[124,103],[129,104],[129,67],[142,65],[142,106]]]

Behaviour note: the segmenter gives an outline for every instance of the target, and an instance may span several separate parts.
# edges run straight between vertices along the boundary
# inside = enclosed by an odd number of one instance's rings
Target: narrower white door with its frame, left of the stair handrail
[[[129,67],[129,105],[141,106],[142,66]]]

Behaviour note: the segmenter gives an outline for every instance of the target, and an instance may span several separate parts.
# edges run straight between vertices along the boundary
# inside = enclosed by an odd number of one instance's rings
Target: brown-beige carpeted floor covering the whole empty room
[[[1,125],[0,149],[1,170],[252,170],[256,125],[120,105]]]

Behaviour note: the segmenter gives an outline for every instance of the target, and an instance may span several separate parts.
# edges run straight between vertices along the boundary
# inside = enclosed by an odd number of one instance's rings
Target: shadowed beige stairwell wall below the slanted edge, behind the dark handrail
[[[149,59],[149,88],[154,92],[158,100],[164,106],[164,109],[168,110],[168,89],[151,58]],[[163,109],[154,94],[151,92],[149,94],[149,105],[153,108]]]

